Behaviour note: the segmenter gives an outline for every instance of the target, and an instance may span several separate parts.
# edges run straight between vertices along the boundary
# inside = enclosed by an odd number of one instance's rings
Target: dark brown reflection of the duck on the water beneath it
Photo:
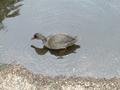
[[[45,55],[49,51],[52,55],[55,55],[58,59],[62,59],[63,56],[65,56],[65,55],[69,55],[71,53],[76,53],[76,50],[80,48],[80,46],[76,45],[76,44],[74,44],[66,49],[59,49],[59,50],[51,50],[46,47],[38,48],[34,45],[31,45],[31,47],[35,49],[35,51],[38,55]]]

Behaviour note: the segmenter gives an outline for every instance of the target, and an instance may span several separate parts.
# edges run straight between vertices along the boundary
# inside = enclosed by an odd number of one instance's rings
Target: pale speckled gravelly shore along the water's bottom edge
[[[120,78],[48,77],[33,75],[21,65],[5,65],[0,90],[120,90]]]

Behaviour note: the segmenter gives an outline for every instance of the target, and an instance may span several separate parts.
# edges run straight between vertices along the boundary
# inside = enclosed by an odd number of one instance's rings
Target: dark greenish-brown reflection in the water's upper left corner
[[[22,4],[19,4],[23,0],[0,0],[0,30],[4,29],[3,20],[5,18],[16,17],[20,13],[19,7]]]

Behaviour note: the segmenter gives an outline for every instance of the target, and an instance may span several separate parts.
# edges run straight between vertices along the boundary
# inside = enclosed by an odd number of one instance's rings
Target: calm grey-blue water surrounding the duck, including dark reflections
[[[118,76],[119,29],[119,0],[0,1],[0,63],[45,75]],[[67,33],[79,41],[61,54],[31,41],[36,32]]]

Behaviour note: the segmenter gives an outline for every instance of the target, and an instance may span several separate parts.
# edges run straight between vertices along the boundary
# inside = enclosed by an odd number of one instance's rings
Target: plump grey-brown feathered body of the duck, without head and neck
[[[73,45],[76,39],[66,34],[56,34],[49,36],[45,44],[49,49],[63,49]]]

